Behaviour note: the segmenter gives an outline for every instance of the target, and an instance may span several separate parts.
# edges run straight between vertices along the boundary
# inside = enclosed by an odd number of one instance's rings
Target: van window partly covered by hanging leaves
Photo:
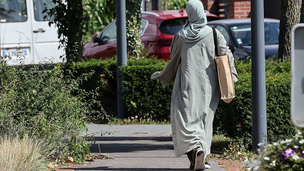
[[[52,9],[55,7],[55,4],[52,0],[34,0],[34,13],[36,21],[47,21],[54,20],[54,16],[50,17],[47,13],[42,13],[44,9]],[[47,15],[47,18],[44,19],[44,16]]]

